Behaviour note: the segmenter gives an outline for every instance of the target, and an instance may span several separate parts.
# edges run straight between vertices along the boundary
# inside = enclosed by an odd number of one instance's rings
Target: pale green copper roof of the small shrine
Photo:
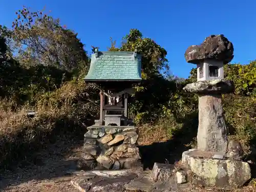
[[[141,55],[136,52],[106,51],[92,54],[86,81],[140,81]]]

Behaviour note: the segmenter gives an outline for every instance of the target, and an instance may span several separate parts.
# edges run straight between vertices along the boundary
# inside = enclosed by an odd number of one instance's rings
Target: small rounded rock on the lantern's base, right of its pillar
[[[238,141],[229,140],[226,157],[233,160],[241,160],[244,154],[243,148]]]

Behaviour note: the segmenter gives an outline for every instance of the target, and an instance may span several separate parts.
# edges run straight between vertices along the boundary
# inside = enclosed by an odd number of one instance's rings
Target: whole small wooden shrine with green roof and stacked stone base
[[[90,169],[141,166],[137,147],[139,131],[129,119],[128,98],[141,81],[141,55],[97,49],[92,54],[86,82],[100,87],[100,115],[84,134],[83,159]]]

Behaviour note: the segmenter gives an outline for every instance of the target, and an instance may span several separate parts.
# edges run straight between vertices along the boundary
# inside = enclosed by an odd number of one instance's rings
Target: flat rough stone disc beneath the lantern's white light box
[[[226,79],[198,81],[187,84],[183,90],[188,93],[198,94],[227,94],[234,92],[234,83]]]

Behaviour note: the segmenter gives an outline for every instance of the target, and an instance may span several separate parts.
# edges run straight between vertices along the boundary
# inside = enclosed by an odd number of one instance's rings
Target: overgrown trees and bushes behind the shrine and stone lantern
[[[57,137],[82,138],[83,124],[90,125],[99,108],[98,91],[82,80],[90,57],[77,33],[41,11],[24,7],[16,14],[12,29],[0,27],[2,166],[34,158],[31,152]],[[182,88],[196,81],[195,69],[178,82],[169,74],[167,51],[137,29],[124,36],[121,47],[111,39],[109,50],[135,48],[143,55],[143,81],[131,97],[130,116],[142,126],[155,125],[169,138],[191,138],[183,143],[190,144],[197,131],[198,97]],[[225,77],[236,84],[236,93],[223,96],[226,122],[249,155],[256,144],[256,61],[226,65]],[[36,117],[28,118],[27,110],[36,111]]]

